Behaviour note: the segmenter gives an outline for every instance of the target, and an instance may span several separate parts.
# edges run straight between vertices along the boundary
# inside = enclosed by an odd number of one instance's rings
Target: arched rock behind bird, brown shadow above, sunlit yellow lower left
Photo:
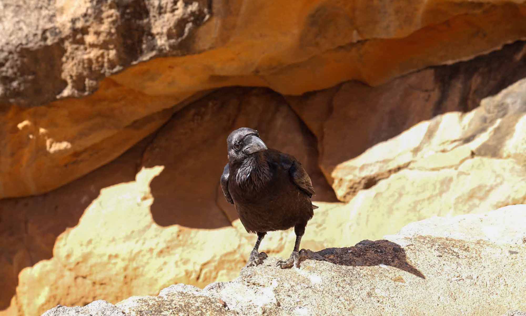
[[[15,287],[11,310],[37,315],[57,303],[116,302],[155,294],[174,282],[204,286],[234,278],[255,236],[240,226],[217,190],[227,161],[226,136],[241,125],[256,127],[269,146],[295,154],[315,181],[317,196],[336,200],[317,167],[316,140],[279,94],[262,88],[220,90],[179,111],[154,136],[89,175],[42,196],[2,201],[2,214],[10,217],[2,222],[11,232],[2,245],[9,250],[6,258],[18,260],[20,254],[25,260],[4,265],[10,280],[4,306]],[[335,239],[321,234],[323,218],[312,222],[304,238],[313,249]],[[31,228],[31,238],[24,225]],[[294,232],[271,235],[262,250],[291,251]],[[75,291],[67,290],[73,286]]]

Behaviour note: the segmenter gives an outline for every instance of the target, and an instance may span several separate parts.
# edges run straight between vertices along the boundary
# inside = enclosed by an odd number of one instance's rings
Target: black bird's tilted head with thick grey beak
[[[259,138],[256,130],[241,127],[230,133],[227,137],[228,161],[241,162],[250,155],[264,151],[267,145]]]

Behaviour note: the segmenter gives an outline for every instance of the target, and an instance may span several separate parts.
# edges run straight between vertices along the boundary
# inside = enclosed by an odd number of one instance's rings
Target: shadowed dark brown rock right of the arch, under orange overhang
[[[518,41],[469,61],[427,67],[378,86],[347,81],[287,96],[287,101],[318,137],[320,165],[330,181],[334,167],[372,146],[437,115],[472,111],[483,98],[517,82],[526,76],[525,52],[526,42]],[[428,135],[438,129],[435,123],[431,122]],[[350,200],[383,175],[371,176],[369,181],[357,182],[355,191],[347,191],[342,199]]]

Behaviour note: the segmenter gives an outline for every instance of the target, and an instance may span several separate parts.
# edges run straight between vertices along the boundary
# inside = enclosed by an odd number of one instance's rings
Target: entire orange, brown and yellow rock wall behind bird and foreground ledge
[[[217,175],[239,126],[306,166],[315,252],[525,203],[524,1],[0,12],[1,316],[234,279],[254,236]]]

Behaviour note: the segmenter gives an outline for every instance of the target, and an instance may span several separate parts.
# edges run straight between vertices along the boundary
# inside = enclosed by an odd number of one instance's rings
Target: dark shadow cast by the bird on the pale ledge
[[[388,240],[362,240],[352,247],[327,248],[317,252],[302,249],[300,260],[309,259],[347,266],[389,265],[426,279],[426,276],[407,262],[403,248]]]

